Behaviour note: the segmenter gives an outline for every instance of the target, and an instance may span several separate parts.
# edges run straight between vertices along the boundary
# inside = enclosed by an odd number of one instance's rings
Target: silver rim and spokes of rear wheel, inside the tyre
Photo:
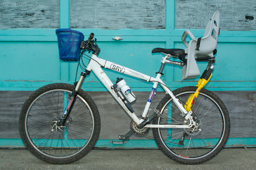
[[[190,94],[194,92],[183,92],[177,95],[179,101],[183,101],[183,106]],[[191,109],[200,120],[194,132],[184,129],[158,128],[158,134],[162,143],[165,143],[165,148],[182,159],[207,157],[217,149],[224,137],[224,114],[213,98],[200,93]],[[163,116],[158,119],[158,124],[184,124],[184,119],[180,116],[181,112],[172,103],[172,99],[162,107],[161,113]],[[188,134],[183,141],[184,146],[178,145],[177,143],[182,141],[184,132]]]

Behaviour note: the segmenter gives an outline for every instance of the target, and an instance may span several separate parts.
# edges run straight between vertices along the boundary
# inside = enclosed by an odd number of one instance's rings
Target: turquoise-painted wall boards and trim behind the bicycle
[[[59,27],[69,28],[69,0],[60,0]],[[222,11],[221,11],[222,13]],[[213,13],[209,14],[210,16]],[[223,25],[225,23],[222,23]],[[181,36],[186,28],[175,29],[175,1],[165,0],[165,29],[75,29],[85,38],[94,32],[101,48],[99,57],[125,67],[155,76],[160,67],[161,54],[151,54],[155,47],[183,48]],[[196,38],[203,29],[190,29]],[[123,40],[112,40],[115,36]],[[218,38],[215,70],[206,88],[213,91],[256,90],[256,30],[223,30]],[[77,63],[59,60],[55,29],[0,29],[1,91],[33,91],[50,83],[73,84]],[[85,59],[87,63],[89,60]],[[206,63],[199,63],[202,73]],[[166,65],[163,80],[171,89],[196,85],[199,76],[181,81],[181,67]],[[78,71],[78,75],[82,69]],[[105,70],[112,81],[119,74]],[[133,91],[150,91],[151,83],[125,75]],[[92,73],[82,89],[106,91]],[[231,144],[235,144],[234,139]],[[242,143],[256,144],[255,139],[240,139]],[[4,145],[23,145],[20,139],[0,139]],[[229,140],[231,141],[231,140]],[[12,143],[14,142],[14,143]],[[98,145],[108,141],[98,141]],[[131,143],[130,143],[131,144]],[[130,145],[127,144],[127,145]],[[112,145],[112,144],[108,144]],[[132,144],[133,145],[133,144]],[[136,146],[136,144],[133,146]],[[155,143],[151,147],[156,147]]]

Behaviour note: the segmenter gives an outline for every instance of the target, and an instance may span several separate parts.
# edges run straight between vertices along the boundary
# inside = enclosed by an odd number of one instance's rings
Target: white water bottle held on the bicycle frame
[[[129,103],[133,103],[136,100],[135,95],[133,94],[130,87],[126,85],[126,82],[123,80],[123,78],[117,78],[116,83],[119,89],[121,89],[121,92],[123,96],[126,98],[126,100]]]

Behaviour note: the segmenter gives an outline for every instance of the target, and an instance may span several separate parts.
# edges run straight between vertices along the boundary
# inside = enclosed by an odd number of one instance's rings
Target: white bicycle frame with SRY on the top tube
[[[165,60],[167,60],[167,57],[165,56],[165,59],[163,59],[162,62],[164,62]],[[151,94],[149,96],[149,100],[146,103],[144,112],[142,114],[142,117],[146,117],[148,111],[149,111],[149,107],[151,105],[151,100],[155,94],[155,90],[158,86],[158,83],[160,83],[163,87],[163,89],[165,90],[166,93],[168,93],[171,98],[173,99],[174,103],[176,104],[176,106],[179,108],[179,110],[181,110],[181,112],[186,115],[185,119],[186,120],[190,120],[190,124],[189,125],[145,125],[145,128],[191,128],[193,124],[195,124],[195,122],[192,119],[192,116],[190,116],[192,114],[192,112],[187,112],[185,110],[185,108],[183,107],[183,105],[181,103],[179,103],[178,99],[174,96],[174,94],[171,92],[171,90],[165,85],[165,83],[162,82],[161,78],[161,74],[157,74],[156,78],[153,78],[151,76],[147,76],[146,74],[142,74],[140,72],[137,72],[133,69],[129,69],[127,67],[123,67],[121,65],[112,63],[110,61],[107,60],[103,60],[101,58],[98,58],[95,54],[92,54],[91,56],[91,60],[89,61],[88,65],[87,65],[87,71],[93,71],[94,74],[98,77],[99,80],[101,80],[101,83],[103,83],[103,85],[107,88],[107,90],[110,92],[110,94],[112,94],[112,96],[114,96],[114,98],[117,100],[117,102],[123,107],[123,109],[128,113],[128,115],[131,117],[131,119],[133,119],[133,121],[139,125],[140,123],[142,123],[144,121],[144,119],[138,119],[137,116],[135,115],[135,113],[130,112],[130,110],[128,110],[128,108],[126,107],[126,105],[123,103],[123,101],[121,100],[121,98],[119,98],[119,96],[117,96],[116,92],[114,92],[114,90],[111,88],[113,86],[113,83],[110,81],[110,79],[108,78],[107,74],[105,74],[105,72],[103,71],[103,69],[101,68],[104,67],[106,69],[111,69],[114,70],[116,72],[120,72],[132,77],[136,77],[136,78],[140,78],[144,81],[147,82],[153,82],[153,88],[151,90]],[[78,86],[75,88],[76,90],[78,90],[81,85],[82,82],[84,81],[84,76],[80,76],[79,81],[78,81]]]

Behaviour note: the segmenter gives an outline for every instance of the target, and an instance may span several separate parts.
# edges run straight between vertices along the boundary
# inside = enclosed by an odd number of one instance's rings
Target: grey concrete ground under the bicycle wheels
[[[26,149],[0,149],[0,170],[256,170],[256,148],[225,148],[215,158],[199,165],[183,165],[161,150],[91,150],[71,164],[53,165]]]

